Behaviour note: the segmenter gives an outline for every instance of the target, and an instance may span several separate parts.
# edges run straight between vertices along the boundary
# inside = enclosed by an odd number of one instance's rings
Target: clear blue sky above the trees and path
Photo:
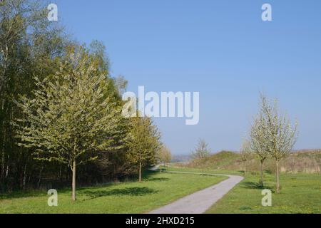
[[[321,147],[321,1],[52,0],[78,41],[103,41],[128,90],[199,91],[200,122],[156,119],[174,154],[198,138],[238,150],[259,92],[300,123],[296,148]],[[272,5],[272,20],[261,6]]]

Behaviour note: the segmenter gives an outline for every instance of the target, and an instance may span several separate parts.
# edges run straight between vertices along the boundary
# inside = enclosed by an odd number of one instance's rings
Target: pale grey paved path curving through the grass
[[[202,214],[208,208],[210,208],[218,199],[228,193],[235,185],[237,185],[243,177],[235,175],[216,175],[208,173],[196,173],[196,172],[172,172],[172,173],[186,173],[186,174],[199,174],[199,175],[215,175],[215,176],[227,176],[227,180],[205,188],[198,192],[194,192],[191,195],[176,200],[164,207],[155,209],[149,214]]]

